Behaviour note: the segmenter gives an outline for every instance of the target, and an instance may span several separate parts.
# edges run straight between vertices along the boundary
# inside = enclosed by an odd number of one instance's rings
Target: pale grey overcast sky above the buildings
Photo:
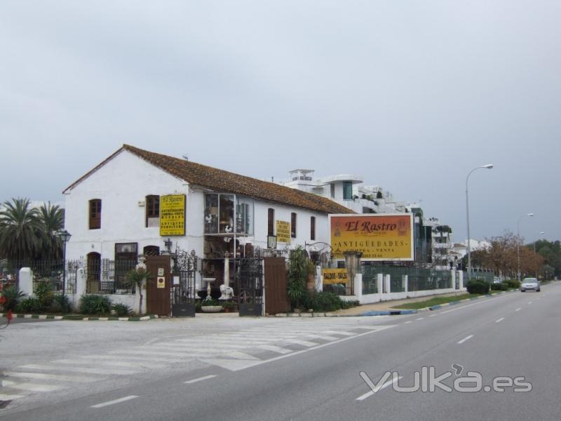
[[[561,2],[2,1],[0,201],[123,143],[355,173],[466,237],[561,239]]]

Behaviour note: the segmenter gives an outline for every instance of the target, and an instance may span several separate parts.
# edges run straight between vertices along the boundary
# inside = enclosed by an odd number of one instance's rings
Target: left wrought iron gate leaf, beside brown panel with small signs
[[[173,317],[194,317],[197,257],[194,252],[187,253],[177,248],[172,258],[175,281],[171,292],[171,314]]]

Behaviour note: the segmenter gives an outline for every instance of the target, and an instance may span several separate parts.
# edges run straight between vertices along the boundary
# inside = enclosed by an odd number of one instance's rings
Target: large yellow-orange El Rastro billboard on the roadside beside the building
[[[414,260],[413,214],[330,215],[332,253],[363,260]]]

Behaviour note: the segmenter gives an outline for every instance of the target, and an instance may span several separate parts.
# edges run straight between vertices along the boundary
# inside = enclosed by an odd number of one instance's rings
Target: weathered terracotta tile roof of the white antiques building
[[[163,171],[180,178],[180,180],[189,182],[190,185],[205,187],[217,192],[243,194],[244,196],[250,196],[255,199],[297,206],[299,208],[316,210],[322,213],[354,213],[349,208],[339,205],[339,203],[313,193],[302,192],[302,190],[291,189],[290,187],[277,185],[273,182],[266,182],[257,180],[256,178],[246,177],[245,175],[230,173],[229,171],[219,170],[218,168],[201,165],[193,161],[186,161],[185,159],[174,158],[173,156],[156,154],[130,145],[123,145],[121,149],[93,168],[92,171],[86,173],[79,178],[79,180],[76,180],[76,182],[67,187],[65,192],[78,185],[85,178],[88,178],[90,174],[104,166],[107,161],[113,159],[114,156],[119,154],[122,150],[140,156],[140,158],[161,168]]]

